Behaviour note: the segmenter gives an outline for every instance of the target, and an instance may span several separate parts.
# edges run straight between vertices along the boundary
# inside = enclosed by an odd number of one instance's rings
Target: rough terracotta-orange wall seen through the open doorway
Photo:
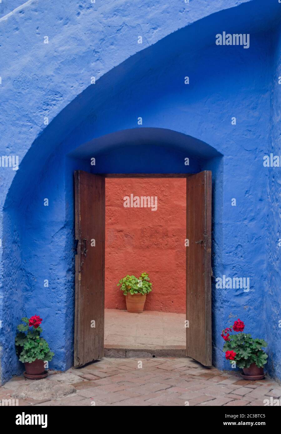
[[[124,208],[123,197],[157,196],[157,210]],[[146,310],[185,312],[185,179],[106,179],[105,307],[126,309],[116,286],[146,271]]]

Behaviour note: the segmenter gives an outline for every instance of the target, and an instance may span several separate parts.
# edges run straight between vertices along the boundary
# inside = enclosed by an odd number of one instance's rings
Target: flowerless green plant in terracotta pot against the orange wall
[[[142,313],[146,294],[152,291],[152,283],[149,282],[149,276],[147,273],[142,273],[139,279],[136,276],[127,276],[119,280],[117,286],[120,286],[120,290],[123,291],[126,296],[127,311],[132,313]]]

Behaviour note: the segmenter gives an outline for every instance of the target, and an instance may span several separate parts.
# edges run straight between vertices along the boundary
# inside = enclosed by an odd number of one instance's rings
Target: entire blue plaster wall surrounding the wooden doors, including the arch
[[[220,334],[240,317],[247,332],[268,340],[269,372],[281,378],[280,174],[263,167],[264,155],[280,152],[281,5],[230,0],[225,9],[224,1],[190,0],[134,8],[73,0],[66,12],[63,2],[27,3],[0,20],[7,59],[0,155],[20,157],[18,171],[0,168],[2,381],[22,371],[13,339],[23,315],[43,317],[56,353],[51,368],[73,363],[76,169],[212,170],[213,273],[250,278],[248,293],[213,282],[214,364],[229,368]],[[224,30],[250,33],[250,48],[216,46]]]

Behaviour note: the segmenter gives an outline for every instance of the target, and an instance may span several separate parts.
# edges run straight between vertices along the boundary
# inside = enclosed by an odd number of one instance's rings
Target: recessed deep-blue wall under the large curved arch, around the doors
[[[189,170],[212,170],[213,273],[249,276],[255,293],[214,293],[215,364],[225,367],[220,333],[229,315],[240,315],[243,309],[249,328],[261,327],[266,335],[267,325],[260,326],[256,312],[264,312],[263,282],[269,273],[267,256],[271,260],[271,250],[276,250],[278,219],[270,217],[276,228],[264,253],[270,232],[268,172],[260,170],[260,161],[269,148],[270,128],[278,138],[269,110],[269,57],[275,47],[266,33],[278,21],[277,7],[273,1],[251,1],[172,33],[111,69],[73,101],[69,92],[66,99],[71,102],[31,146],[28,142],[30,148],[9,184],[3,214],[2,381],[22,369],[13,339],[24,314],[44,317],[45,335],[56,352],[53,366],[71,365],[75,169],[180,173],[187,170],[183,160],[190,154]],[[240,33],[251,32],[250,49],[215,46],[214,35],[225,23],[230,33],[236,33],[237,26]],[[277,74],[278,59],[274,65]],[[51,102],[56,97],[54,93]],[[278,112],[277,95],[273,100]],[[237,125],[231,124],[233,116],[239,119]],[[137,123],[140,117],[142,125]],[[89,166],[89,155],[96,158],[96,166]],[[129,161],[131,167],[125,167]],[[45,197],[49,207],[43,207]],[[236,208],[230,205],[232,197],[239,204]],[[278,215],[277,207],[274,213]],[[271,270],[278,281],[274,264]],[[269,316],[276,311],[278,297],[276,293],[272,303],[268,296]],[[274,325],[275,337],[277,332]],[[280,373],[280,348],[271,344],[271,372]]]

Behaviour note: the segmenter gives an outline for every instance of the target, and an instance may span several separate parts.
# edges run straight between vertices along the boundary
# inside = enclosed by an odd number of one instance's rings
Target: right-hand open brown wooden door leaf
[[[186,178],[186,355],[212,365],[212,172]]]

